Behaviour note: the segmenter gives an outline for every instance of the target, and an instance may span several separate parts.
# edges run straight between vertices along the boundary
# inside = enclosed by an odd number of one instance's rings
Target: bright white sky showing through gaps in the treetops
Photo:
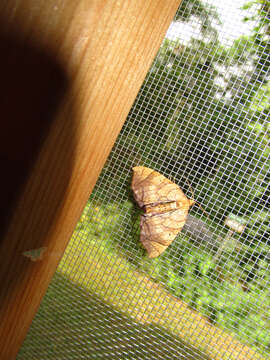
[[[205,0],[206,3],[214,5],[217,8],[221,25],[217,25],[219,39],[224,45],[230,46],[232,41],[243,34],[249,34],[254,24],[244,23],[242,19],[248,15],[247,11],[241,10],[247,0]],[[188,42],[194,34],[200,35],[196,23],[172,23],[166,37],[169,39],[180,38]]]

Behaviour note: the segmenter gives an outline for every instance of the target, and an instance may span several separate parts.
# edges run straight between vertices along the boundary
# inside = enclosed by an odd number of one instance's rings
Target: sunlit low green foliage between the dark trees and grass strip
[[[258,256],[266,250],[263,244],[261,249],[257,244],[256,255],[249,245],[231,239],[233,246],[225,247],[215,258],[180,234],[163,255],[149,259],[139,243],[139,216],[130,201],[101,205],[93,200],[75,236],[80,234],[89,245],[98,244],[106,254],[126,258],[211,322],[264,352],[270,343],[270,323],[265,316],[270,306],[270,259]]]

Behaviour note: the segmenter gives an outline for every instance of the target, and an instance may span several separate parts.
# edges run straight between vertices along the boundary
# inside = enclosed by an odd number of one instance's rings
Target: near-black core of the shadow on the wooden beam
[[[67,91],[64,69],[48,51],[0,28],[0,161],[3,235],[21,189]],[[8,28],[8,25],[6,25]],[[72,147],[72,144],[70,144]],[[69,164],[63,164],[70,168]],[[46,176],[46,174],[44,174]]]

